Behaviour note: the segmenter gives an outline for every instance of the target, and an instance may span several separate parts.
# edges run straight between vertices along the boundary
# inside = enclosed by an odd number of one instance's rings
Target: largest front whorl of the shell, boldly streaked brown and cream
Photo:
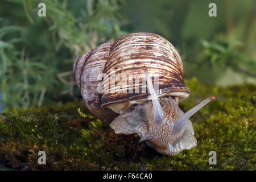
[[[115,70],[115,85],[109,85],[102,94],[102,107],[111,107],[119,103],[141,100],[148,98],[147,93],[111,93],[110,89],[118,90],[118,75],[136,75],[144,78],[142,67],[146,66],[150,75],[157,75],[159,78],[160,96],[177,96],[180,100],[187,98],[189,89],[185,88],[183,77],[183,63],[179,53],[168,40],[160,35],[151,33],[135,33],[123,36],[114,44],[109,53],[104,73],[104,85],[111,79],[110,70]],[[154,84],[154,80],[152,80]],[[129,84],[124,90],[129,90]],[[133,89],[135,88],[133,85]],[[142,90],[143,86],[139,85]],[[114,106],[112,106],[114,108]],[[118,111],[119,113],[120,111]]]

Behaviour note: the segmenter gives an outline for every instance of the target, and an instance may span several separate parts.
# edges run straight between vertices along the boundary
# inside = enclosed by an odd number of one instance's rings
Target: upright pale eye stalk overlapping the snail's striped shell
[[[156,123],[161,123],[163,121],[163,117],[164,117],[162,107],[160,106],[160,103],[158,101],[158,96],[155,93],[155,89],[153,87],[152,81],[151,81],[150,76],[148,74],[147,67],[143,66],[142,69],[143,69],[143,71],[145,72],[145,75],[146,75],[147,86],[148,86],[148,89],[150,91],[150,96],[151,96],[152,103],[153,103],[154,121]]]

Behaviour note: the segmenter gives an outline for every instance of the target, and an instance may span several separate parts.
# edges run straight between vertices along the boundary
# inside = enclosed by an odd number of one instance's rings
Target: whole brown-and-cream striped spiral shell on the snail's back
[[[150,93],[147,89],[142,93],[147,88],[146,84],[142,84],[145,77],[143,66],[147,67],[150,75],[158,76],[160,97],[176,96],[179,100],[188,97],[190,90],[185,88],[179,53],[168,40],[156,34],[134,33],[123,36],[115,43],[101,44],[78,57],[73,71],[88,109],[97,118],[112,121],[114,112],[107,108],[122,113],[131,102],[148,99]],[[103,79],[98,77],[101,73],[105,73]],[[139,82],[131,75],[139,77]],[[132,77],[131,82],[129,76]],[[102,94],[97,92],[100,82],[104,85],[101,87]],[[121,82],[126,82],[126,85],[119,87]],[[154,85],[153,77],[152,83]],[[139,93],[134,93],[136,86]],[[116,92],[118,89],[123,93]],[[129,89],[133,93],[129,93]],[[104,114],[105,111],[111,114]]]

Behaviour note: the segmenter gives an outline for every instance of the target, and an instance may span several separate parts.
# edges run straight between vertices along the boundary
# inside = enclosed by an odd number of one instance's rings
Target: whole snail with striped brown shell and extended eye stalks
[[[169,156],[196,146],[189,118],[215,99],[180,110],[179,101],[190,93],[181,57],[168,40],[152,33],[128,34],[83,53],[73,73],[88,109],[115,134],[138,134],[139,142],[146,140]]]

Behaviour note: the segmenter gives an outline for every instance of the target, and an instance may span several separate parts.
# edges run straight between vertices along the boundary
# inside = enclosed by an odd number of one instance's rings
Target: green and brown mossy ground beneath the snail
[[[74,102],[0,114],[0,170],[255,170],[256,86],[207,87],[195,78],[185,83],[191,95],[179,104],[184,111],[217,97],[191,118],[197,139],[191,150],[160,155],[136,135],[114,134]],[[40,150],[46,151],[46,165],[37,162]],[[209,151],[216,151],[216,165],[208,163]]]

